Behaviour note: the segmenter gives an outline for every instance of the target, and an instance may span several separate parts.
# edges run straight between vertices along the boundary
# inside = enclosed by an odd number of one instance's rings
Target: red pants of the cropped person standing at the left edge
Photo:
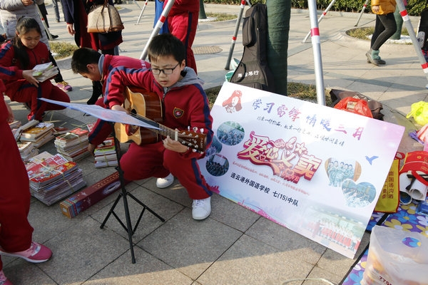
[[[33,234],[27,219],[29,177],[6,121],[0,122],[0,137],[0,247],[6,252],[21,252],[29,249]]]

